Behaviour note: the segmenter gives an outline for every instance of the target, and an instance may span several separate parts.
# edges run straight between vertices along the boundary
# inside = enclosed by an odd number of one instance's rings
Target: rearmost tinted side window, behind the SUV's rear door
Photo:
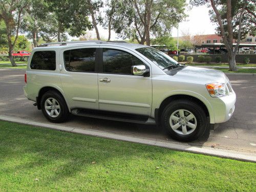
[[[36,51],[31,59],[30,68],[54,71],[56,69],[55,51]]]

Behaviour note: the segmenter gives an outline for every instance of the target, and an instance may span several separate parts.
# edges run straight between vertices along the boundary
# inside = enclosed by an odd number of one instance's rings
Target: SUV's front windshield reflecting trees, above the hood
[[[168,68],[169,66],[179,66],[179,63],[172,57],[153,47],[143,47],[136,49],[136,51],[153,61],[161,69]]]

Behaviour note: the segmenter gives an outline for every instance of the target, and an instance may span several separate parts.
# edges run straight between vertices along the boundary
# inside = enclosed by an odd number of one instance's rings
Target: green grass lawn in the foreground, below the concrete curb
[[[0,191],[256,191],[256,164],[0,121]]]

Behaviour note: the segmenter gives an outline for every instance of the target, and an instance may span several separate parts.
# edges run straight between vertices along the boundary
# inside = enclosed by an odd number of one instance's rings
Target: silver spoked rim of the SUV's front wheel
[[[193,113],[187,110],[176,110],[170,115],[170,127],[180,135],[189,135],[196,130],[197,119]]]

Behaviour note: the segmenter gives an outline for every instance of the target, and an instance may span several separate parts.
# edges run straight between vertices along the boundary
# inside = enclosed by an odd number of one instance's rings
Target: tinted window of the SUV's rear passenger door
[[[94,72],[96,48],[72,49],[64,51],[67,71]]]

